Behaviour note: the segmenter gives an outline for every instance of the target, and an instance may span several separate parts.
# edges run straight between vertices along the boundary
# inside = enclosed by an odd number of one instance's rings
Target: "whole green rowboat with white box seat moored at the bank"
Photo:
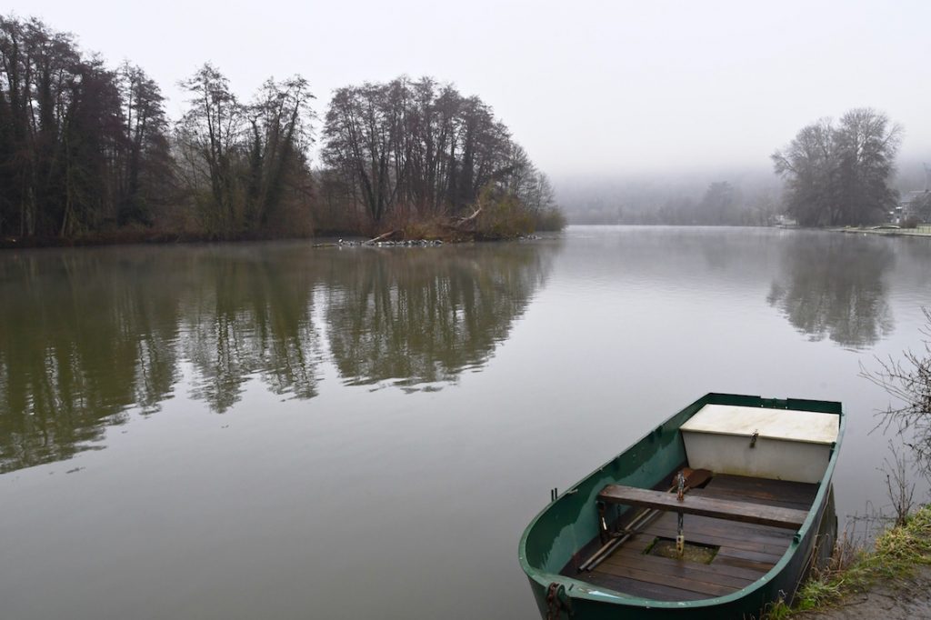
[[[708,394],[553,499],[520,538],[542,617],[760,618],[837,534],[841,403]]]

